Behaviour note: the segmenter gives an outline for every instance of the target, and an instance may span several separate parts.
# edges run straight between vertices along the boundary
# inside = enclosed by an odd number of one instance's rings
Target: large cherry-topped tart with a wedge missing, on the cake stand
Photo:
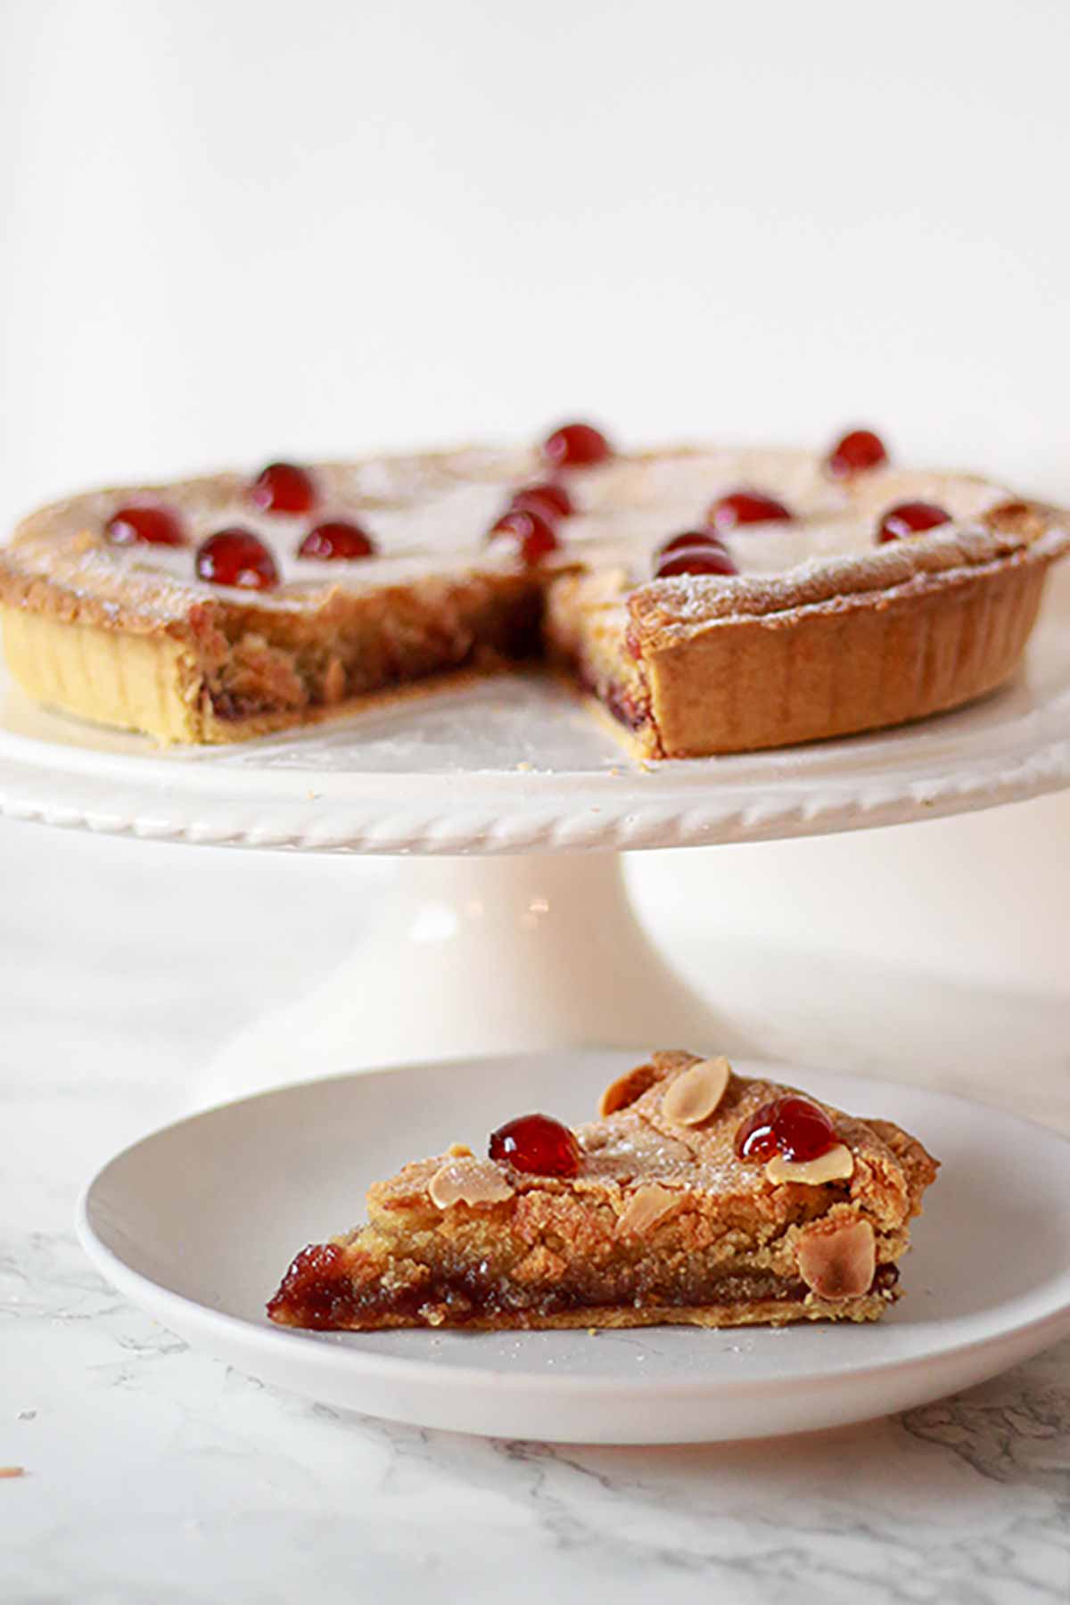
[[[831,451],[541,446],[96,491],[0,551],[8,666],[160,742],[237,742],[549,658],[648,758],[784,746],[1006,681],[1065,514]]]

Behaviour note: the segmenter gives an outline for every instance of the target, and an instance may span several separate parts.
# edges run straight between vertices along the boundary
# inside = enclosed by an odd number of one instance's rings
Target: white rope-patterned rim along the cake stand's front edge
[[[449,777],[427,778],[435,783]],[[297,852],[634,852],[865,830],[1025,801],[1070,785],[1070,738],[1011,764],[993,761],[969,772],[910,783],[860,783],[853,790],[805,786],[800,790],[809,794],[802,796],[781,785],[780,791],[740,801],[732,796],[733,786],[719,790],[715,769],[707,770],[707,793],[695,801],[682,794],[675,801],[645,802],[642,774],[621,777],[621,783],[627,791],[621,799],[613,796],[613,782],[600,793],[587,786],[582,798],[571,801],[555,790],[545,802],[536,786],[526,785],[494,804],[454,807],[446,814],[441,802],[390,807],[382,799],[340,801],[314,791],[302,802],[273,798],[263,806],[209,791],[194,802],[170,788],[165,798],[154,798],[148,788],[128,790],[122,782],[96,777],[75,782],[51,767],[37,769],[0,754],[0,815],[148,841]]]

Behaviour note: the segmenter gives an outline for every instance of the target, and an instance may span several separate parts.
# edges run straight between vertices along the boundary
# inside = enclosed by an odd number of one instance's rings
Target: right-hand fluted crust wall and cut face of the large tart
[[[959,708],[1017,669],[1070,539],[1065,515],[1014,507],[938,549],[898,542],[701,594],[664,579],[606,597],[602,576],[566,576],[547,631],[645,758],[887,729]]]

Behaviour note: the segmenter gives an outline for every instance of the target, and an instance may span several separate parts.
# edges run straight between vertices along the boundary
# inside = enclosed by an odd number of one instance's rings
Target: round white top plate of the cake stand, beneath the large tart
[[[775,753],[640,766],[533,674],[231,748],[160,753],[0,676],[0,814],[303,852],[569,852],[762,841],[993,807],[1070,782],[1070,632],[958,713]]]

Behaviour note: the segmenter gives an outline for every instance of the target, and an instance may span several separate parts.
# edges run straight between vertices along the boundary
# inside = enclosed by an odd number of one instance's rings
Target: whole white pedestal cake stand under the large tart
[[[627,759],[587,708],[537,676],[454,684],[345,724],[194,753],[40,713],[10,685],[0,695],[3,815],[398,857],[374,936],[225,1046],[220,1098],[302,1072],[561,1043],[733,1051],[730,1021],[635,920],[621,852],[903,823],[1068,783],[1070,631],[1054,613],[1017,682],[972,708],[701,762]]]

